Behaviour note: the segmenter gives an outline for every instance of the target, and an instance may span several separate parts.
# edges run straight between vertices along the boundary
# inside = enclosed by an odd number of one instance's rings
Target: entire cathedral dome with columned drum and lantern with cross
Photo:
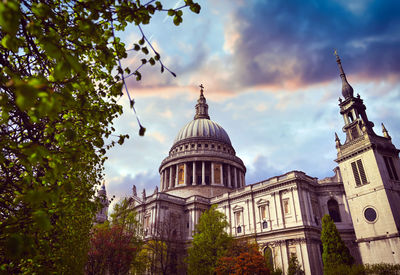
[[[201,89],[194,120],[178,133],[160,166],[161,191],[185,186],[245,186],[246,168],[225,130],[208,116]]]

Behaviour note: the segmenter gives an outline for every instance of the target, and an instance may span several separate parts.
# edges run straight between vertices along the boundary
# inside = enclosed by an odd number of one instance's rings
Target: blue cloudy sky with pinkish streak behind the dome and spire
[[[165,1],[179,7],[183,1]],[[367,106],[374,130],[381,123],[400,148],[400,1],[219,0],[199,1],[200,14],[184,9],[176,27],[166,13],[142,26],[164,65],[145,66],[142,80],[127,81],[147,131],[138,135],[135,114],[123,96],[115,134],[129,134],[108,153],[105,181],[114,203],[160,184],[158,168],[179,130],[193,119],[199,85],[213,121],[228,133],[247,167],[246,184],[292,170],[333,176],[335,132],[344,142],[339,114],[341,79]],[[136,26],[120,33],[127,48],[141,38]],[[130,51],[134,70],[142,55]]]

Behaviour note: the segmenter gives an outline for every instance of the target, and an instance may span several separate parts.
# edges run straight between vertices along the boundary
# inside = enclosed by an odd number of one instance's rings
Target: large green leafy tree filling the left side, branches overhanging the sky
[[[177,9],[158,1],[0,2],[2,272],[83,272],[99,207],[94,189],[116,143],[104,139],[122,113],[123,86],[134,110],[125,79],[140,80],[144,64],[170,71],[141,25],[155,12],[168,12],[179,25],[186,6],[200,11],[192,0]],[[132,50],[145,57],[132,72],[121,66],[127,49],[116,36],[128,23],[142,34]]]

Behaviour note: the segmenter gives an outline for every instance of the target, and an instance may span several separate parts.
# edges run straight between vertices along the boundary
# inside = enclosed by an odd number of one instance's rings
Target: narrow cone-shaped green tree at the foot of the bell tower
[[[322,218],[321,241],[324,274],[334,274],[335,268],[341,265],[350,266],[354,263],[349,249],[342,241],[335,223],[328,214]]]

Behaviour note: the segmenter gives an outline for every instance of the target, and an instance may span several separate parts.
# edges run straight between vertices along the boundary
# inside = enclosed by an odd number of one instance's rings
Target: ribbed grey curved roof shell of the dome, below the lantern
[[[207,119],[198,118],[186,124],[178,133],[174,144],[191,138],[202,138],[231,144],[228,134],[218,123]]]

